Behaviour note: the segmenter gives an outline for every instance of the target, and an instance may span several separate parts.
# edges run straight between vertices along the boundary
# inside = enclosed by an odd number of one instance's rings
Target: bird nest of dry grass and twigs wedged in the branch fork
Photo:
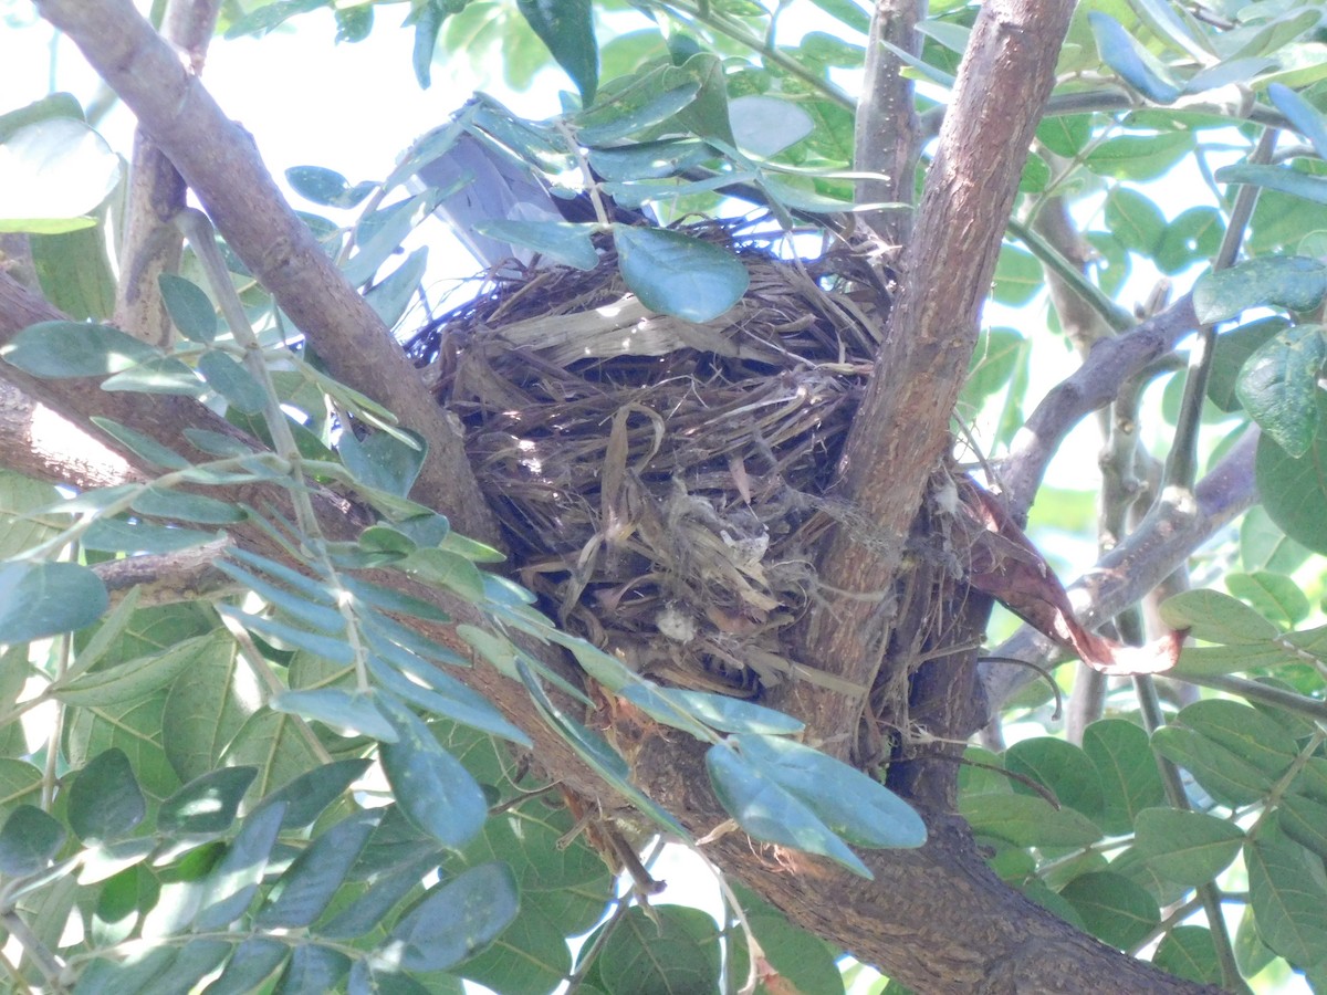
[[[571,631],[686,687],[824,681],[779,631],[840,516],[827,490],[885,296],[827,289],[861,283],[848,253],[788,260],[719,226],[691,233],[751,273],[719,318],[650,312],[609,248],[589,272],[492,280],[407,350],[464,426],[522,581]]]

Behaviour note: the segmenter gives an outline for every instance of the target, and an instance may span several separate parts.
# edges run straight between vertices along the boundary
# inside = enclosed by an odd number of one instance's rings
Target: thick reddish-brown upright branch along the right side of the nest
[[[835,528],[819,561],[821,601],[803,630],[803,659],[860,686],[872,686],[882,661],[904,540],[949,446],[949,419],[1072,8],[1068,0],[986,4],[959,66],[904,256],[902,291],[840,467],[843,496],[863,524]],[[835,694],[807,686],[792,698],[817,740],[851,752],[863,702],[852,703],[845,722]]]

